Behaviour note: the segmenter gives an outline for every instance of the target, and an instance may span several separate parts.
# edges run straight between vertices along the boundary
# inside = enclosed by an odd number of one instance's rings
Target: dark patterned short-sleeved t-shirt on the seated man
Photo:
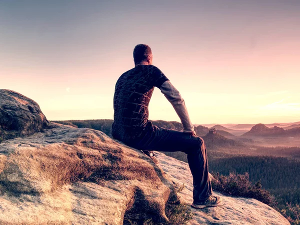
[[[154,86],[169,80],[154,65],[136,65],[116,81],[113,109],[112,136],[121,141],[138,140],[151,130],[148,105]]]

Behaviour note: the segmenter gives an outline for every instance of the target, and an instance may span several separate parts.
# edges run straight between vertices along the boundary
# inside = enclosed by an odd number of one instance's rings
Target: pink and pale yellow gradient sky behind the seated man
[[[192,123],[300,121],[300,0],[0,0],[0,89],[50,120],[113,118],[136,44]],[[179,121],[155,87],[149,119]]]

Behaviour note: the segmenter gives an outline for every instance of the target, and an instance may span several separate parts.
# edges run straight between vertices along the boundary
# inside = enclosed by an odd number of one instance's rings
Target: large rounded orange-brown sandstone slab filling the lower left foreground
[[[141,151],[104,133],[56,127],[0,144],[0,224],[165,220],[171,181]]]

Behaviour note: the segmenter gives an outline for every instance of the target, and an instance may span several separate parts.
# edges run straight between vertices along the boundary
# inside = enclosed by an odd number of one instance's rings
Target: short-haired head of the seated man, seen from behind
[[[134,64],[152,65],[152,51],[146,44],[137,44],[133,49]]]

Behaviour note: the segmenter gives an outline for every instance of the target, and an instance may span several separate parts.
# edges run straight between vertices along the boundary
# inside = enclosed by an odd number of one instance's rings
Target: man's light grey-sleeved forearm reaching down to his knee
[[[179,116],[183,126],[183,132],[194,132],[194,127],[191,124],[184,100],[179,91],[171,84],[169,80],[164,81],[159,89],[172,104],[177,115]]]

